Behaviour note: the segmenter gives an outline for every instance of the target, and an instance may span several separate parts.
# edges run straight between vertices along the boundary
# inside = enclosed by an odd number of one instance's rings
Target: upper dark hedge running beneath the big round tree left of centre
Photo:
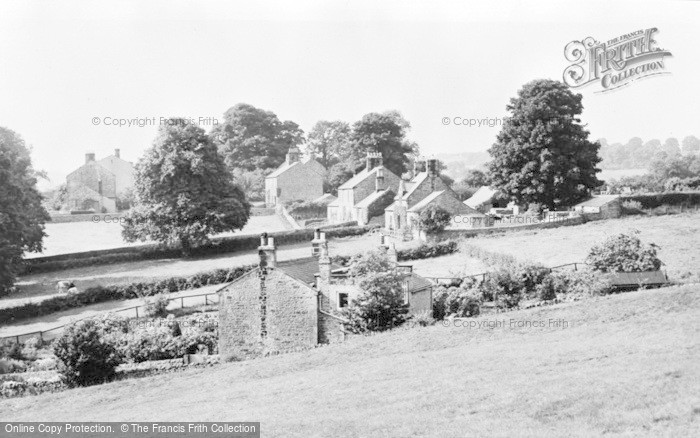
[[[366,233],[370,227],[326,228],[328,237],[358,236]],[[270,233],[277,245],[311,241],[314,230],[294,230]],[[210,245],[192,250],[194,257],[204,257],[225,254],[235,251],[256,249],[260,245],[260,236],[230,236],[212,239]],[[166,248],[159,245],[147,245],[137,248],[116,248],[111,250],[90,251],[85,253],[63,254],[51,257],[37,257],[25,260],[24,270],[20,275],[37,274],[41,272],[60,271],[84,266],[107,265],[136,260],[154,260],[181,258],[178,248]]]

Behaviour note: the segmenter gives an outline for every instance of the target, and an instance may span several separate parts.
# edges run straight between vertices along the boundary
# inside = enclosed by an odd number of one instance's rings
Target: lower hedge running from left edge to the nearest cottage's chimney
[[[179,292],[202,286],[222,284],[240,277],[255,266],[247,265],[233,269],[216,269],[189,277],[171,277],[149,282],[90,287],[74,294],[49,298],[39,303],[27,303],[18,307],[0,309],[0,321],[17,321],[105,301],[129,300],[159,293]]]

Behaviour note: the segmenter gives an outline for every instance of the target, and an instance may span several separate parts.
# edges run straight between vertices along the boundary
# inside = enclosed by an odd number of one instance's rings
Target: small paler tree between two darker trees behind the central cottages
[[[316,159],[328,169],[353,155],[351,132],[350,125],[346,122],[321,120],[311,128],[306,150],[314,154]]]

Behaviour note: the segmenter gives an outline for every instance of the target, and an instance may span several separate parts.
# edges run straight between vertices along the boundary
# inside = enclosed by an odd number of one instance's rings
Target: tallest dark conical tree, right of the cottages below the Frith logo
[[[561,82],[536,80],[518,91],[488,164],[492,186],[520,204],[573,205],[601,184],[600,145],[578,116],[582,96]]]

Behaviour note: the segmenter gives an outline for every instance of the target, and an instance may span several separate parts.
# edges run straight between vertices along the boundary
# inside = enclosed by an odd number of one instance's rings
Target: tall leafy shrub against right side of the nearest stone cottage
[[[343,309],[346,329],[353,333],[384,331],[406,321],[403,275],[396,271],[371,273],[360,282],[362,293]]]

